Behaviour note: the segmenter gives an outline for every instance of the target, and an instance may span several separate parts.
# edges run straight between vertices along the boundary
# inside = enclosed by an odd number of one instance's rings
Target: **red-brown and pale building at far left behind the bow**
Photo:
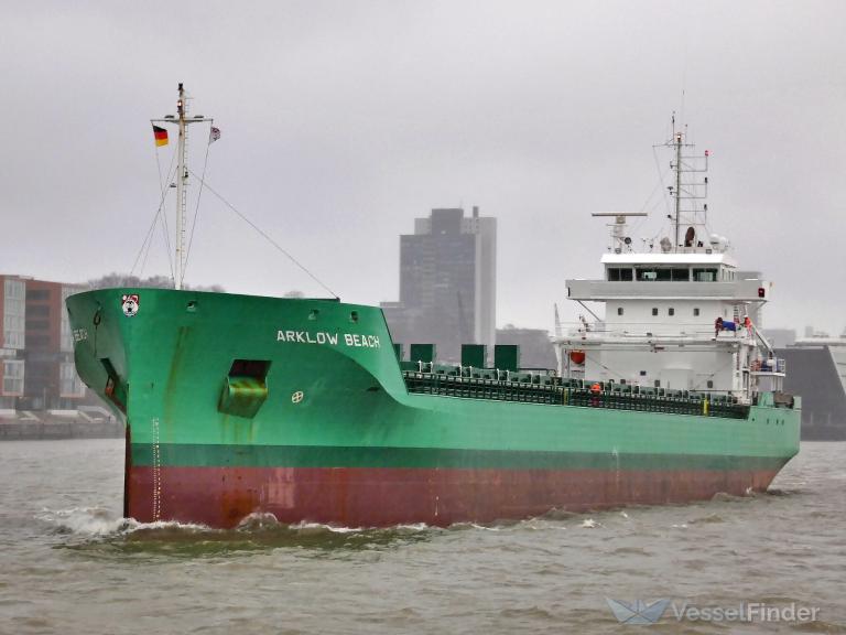
[[[80,289],[0,276],[0,410],[70,410],[85,398],[65,310],[65,299]]]

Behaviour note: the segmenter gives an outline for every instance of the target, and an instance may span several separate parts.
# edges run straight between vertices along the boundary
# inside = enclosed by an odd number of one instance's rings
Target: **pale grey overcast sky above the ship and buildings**
[[[343,300],[395,300],[413,218],[478,205],[497,323],[552,329],[565,280],[600,275],[590,212],[647,206],[636,235],[666,234],[652,147],[676,110],[712,153],[711,228],[774,282],[766,325],[846,327],[846,2],[0,6],[0,272],[131,269],[150,119],[184,82],[223,131],[208,183]],[[143,275],[169,271],[160,232]],[[326,294],[208,192],[186,282]]]

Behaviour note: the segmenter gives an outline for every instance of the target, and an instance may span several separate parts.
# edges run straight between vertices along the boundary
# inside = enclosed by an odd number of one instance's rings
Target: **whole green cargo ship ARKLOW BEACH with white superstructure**
[[[492,364],[474,344],[460,364],[425,343],[404,358],[375,306],[182,289],[186,110],[181,85],[176,288],[67,299],[79,376],[126,421],[127,517],[491,523],[763,491],[798,452],[800,398],[755,326],[729,331],[726,313],[725,330],[698,333],[714,311],[758,308],[764,286],[734,279],[719,241],[634,255],[626,216],[606,279],[568,287],[631,313],[638,332],[609,319],[560,329],[556,369],[521,369],[507,346]],[[696,327],[668,322],[676,300]]]

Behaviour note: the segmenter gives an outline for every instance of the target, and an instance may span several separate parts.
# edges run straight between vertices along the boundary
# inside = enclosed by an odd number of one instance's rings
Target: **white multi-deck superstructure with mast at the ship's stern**
[[[759,333],[770,283],[742,271],[728,240],[707,233],[707,153],[686,157],[682,132],[674,151],[675,202],[671,236],[658,248],[634,251],[627,218],[612,218],[609,252],[599,280],[567,280],[567,297],[593,321],[556,336],[565,377],[632,384],[665,390],[728,392],[750,402],[761,390],[781,390],[783,360]],[[605,316],[585,302],[605,305]],[[717,324],[722,322],[722,327]]]

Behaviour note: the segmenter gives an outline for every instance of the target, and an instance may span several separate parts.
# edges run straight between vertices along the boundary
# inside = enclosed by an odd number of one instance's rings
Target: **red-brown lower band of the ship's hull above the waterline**
[[[154,478],[152,467],[133,466],[126,509],[144,523],[177,520],[221,528],[234,527],[252,513],[273,514],[280,523],[447,526],[527,518],[553,508],[586,512],[685,503],[719,492],[739,496],[749,489],[764,491],[776,473],[161,467]]]

